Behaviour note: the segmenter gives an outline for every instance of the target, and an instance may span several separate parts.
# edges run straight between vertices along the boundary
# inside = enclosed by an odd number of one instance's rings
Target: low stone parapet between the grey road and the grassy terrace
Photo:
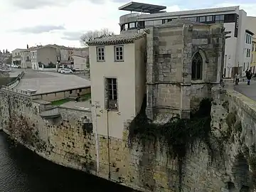
[[[61,90],[58,92],[46,92],[42,94],[33,94],[32,98],[33,100],[46,100],[46,101],[52,102],[52,101],[61,100],[67,97],[77,97],[78,93],[80,93],[80,95],[85,95],[87,93],[90,93],[90,87],[79,87],[79,88],[74,88],[70,90]]]

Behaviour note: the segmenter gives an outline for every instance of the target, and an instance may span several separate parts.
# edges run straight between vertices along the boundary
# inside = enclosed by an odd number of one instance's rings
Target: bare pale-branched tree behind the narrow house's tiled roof
[[[84,46],[88,46],[87,42],[92,41],[95,38],[102,38],[105,36],[113,36],[114,32],[109,31],[108,28],[102,28],[100,31],[87,31],[80,37],[80,41]]]

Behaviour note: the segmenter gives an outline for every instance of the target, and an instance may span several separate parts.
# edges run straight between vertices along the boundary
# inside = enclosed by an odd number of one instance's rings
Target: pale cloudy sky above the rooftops
[[[247,16],[256,16],[255,0],[137,1],[167,6],[166,11],[240,6]],[[0,0],[0,50],[26,48],[27,44],[81,47],[82,33],[100,28],[119,34],[119,16],[129,12],[119,11],[118,7],[127,3],[128,0]]]

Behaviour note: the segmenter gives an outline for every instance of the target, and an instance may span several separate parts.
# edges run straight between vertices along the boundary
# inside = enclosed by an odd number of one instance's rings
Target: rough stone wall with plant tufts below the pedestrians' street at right
[[[256,186],[256,102],[233,89],[213,87],[212,129],[223,147],[232,191]]]

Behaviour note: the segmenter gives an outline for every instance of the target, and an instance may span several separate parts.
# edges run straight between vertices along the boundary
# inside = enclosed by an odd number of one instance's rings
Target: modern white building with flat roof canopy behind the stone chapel
[[[119,7],[119,10],[131,11],[119,18],[121,33],[137,33],[138,29],[151,26],[161,26],[176,18],[186,18],[201,23],[223,23],[225,30],[230,31],[230,38],[225,42],[225,66],[223,76],[232,78],[242,70],[247,62],[244,57],[245,30],[247,14],[239,6],[230,6],[213,9],[198,9],[190,11],[164,11],[166,6],[156,6],[130,2]]]

